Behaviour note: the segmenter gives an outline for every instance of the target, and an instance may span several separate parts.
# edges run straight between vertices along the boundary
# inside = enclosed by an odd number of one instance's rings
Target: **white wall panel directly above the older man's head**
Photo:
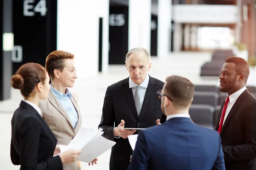
[[[151,0],[129,0],[128,50],[144,47],[150,51]]]

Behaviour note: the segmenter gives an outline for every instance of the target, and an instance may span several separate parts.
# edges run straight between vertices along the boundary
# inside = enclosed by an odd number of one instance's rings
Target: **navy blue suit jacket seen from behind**
[[[128,170],[225,170],[217,131],[172,118],[141,130]]]

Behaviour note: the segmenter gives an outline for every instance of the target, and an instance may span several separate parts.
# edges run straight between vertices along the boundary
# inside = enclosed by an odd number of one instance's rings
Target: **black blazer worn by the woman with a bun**
[[[12,117],[11,160],[20,170],[62,170],[59,156],[53,157],[57,139],[40,116],[26,102]]]

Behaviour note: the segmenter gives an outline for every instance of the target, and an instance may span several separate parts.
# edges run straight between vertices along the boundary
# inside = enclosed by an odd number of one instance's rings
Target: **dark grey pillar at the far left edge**
[[[0,0],[0,101],[11,98],[11,50],[3,49],[3,34],[12,33],[12,0]]]

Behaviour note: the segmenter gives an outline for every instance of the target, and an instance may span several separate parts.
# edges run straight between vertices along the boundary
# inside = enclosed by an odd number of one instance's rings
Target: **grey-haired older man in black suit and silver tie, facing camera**
[[[110,158],[110,170],[127,170],[132,154],[127,136],[137,133],[130,128],[147,128],[164,122],[161,101],[156,92],[164,82],[150,77],[151,60],[145,48],[133,48],[126,54],[125,67],[129,77],[107,88],[99,127],[103,136],[115,141]]]

